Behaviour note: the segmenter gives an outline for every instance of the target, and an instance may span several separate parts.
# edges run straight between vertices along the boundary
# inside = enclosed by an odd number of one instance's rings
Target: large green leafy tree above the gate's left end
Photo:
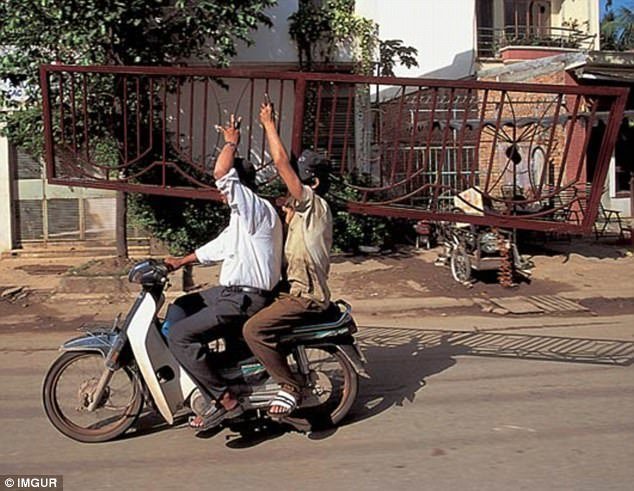
[[[3,133],[34,156],[42,154],[42,96],[38,79],[42,63],[171,65],[195,58],[212,66],[226,66],[236,54],[239,40],[250,43],[253,30],[261,24],[271,25],[264,9],[275,3],[275,0],[2,0],[0,107],[6,110],[0,112]],[[120,193],[119,203],[122,202],[125,199]],[[182,200],[181,204],[187,206]],[[119,209],[125,211],[125,206]],[[179,223],[190,226],[182,219]],[[197,225],[191,224],[196,230]],[[118,227],[119,238],[125,236],[124,229]],[[118,240],[118,249],[120,243]]]

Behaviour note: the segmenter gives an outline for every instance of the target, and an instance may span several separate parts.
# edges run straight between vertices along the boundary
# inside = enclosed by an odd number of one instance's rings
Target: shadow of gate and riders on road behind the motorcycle
[[[413,401],[425,379],[461,355],[629,366],[634,342],[496,332],[365,327],[357,335],[370,380],[361,385],[346,423]]]

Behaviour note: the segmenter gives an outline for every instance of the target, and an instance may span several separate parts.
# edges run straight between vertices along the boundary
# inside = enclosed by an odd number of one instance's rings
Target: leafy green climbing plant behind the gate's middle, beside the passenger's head
[[[319,5],[311,0],[300,0],[298,10],[288,20],[300,70],[314,70],[315,61],[329,63],[342,47],[351,51],[353,71],[361,75],[394,76],[397,63],[408,68],[418,66],[416,48],[404,46],[398,39],[379,39],[377,24],[355,13],[354,0],[324,0]],[[360,100],[369,102],[369,94],[369,86],[357,88]],[[305,145],[311,145],[316,101],[313,87],[306,94]],[[334,247],[339,251],[357,252],[360,245],[388,248],[393,245],[394,237],[404,236],[402,228],[399,230],[403,225],[401,221],[348,211],[347,202],[360,199],[360,193],[350,184],[367,184],[368,179],[368,176],[349,176],[349,180],[333,182],[329,201],[334,220]]]

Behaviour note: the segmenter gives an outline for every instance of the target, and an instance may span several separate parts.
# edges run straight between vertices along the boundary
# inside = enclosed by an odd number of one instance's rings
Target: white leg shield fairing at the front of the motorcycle
[[[173,424],[174,415],[183,408],[196,384],[181,368],[154,326],[158,306],[152,295],[142,293],[135,307],[126,334],[156,408],[169,424]]]

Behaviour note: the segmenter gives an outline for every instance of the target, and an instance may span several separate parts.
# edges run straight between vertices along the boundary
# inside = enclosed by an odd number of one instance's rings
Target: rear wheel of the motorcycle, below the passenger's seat
[[[315,426],[334,426],[354,404],[359,378],[346,356],[334,346],[304,348],[308,362],[308,384],[300,409],[293,417]],[[292,369],[297,370],[295,363]]]

